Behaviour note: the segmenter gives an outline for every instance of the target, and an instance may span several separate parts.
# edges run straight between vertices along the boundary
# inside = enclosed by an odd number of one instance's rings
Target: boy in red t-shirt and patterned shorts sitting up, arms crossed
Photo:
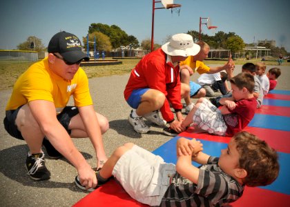
[[[231,78],[232,97],[220,99],[221,110],[205,98],[200,98],[182,122],[186,128],[191,123],[210,134],[233,136],[243,130],[253,119],[257,101],[253,96],[253,75],[241,72]]]

